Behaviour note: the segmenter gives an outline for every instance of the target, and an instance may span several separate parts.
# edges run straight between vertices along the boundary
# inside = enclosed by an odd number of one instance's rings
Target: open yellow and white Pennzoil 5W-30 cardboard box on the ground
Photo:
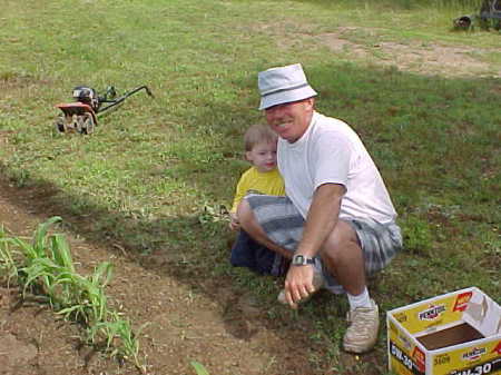
[[[395,374],[501,374],[501,307],[479,288],[395,308],[386,326]]]

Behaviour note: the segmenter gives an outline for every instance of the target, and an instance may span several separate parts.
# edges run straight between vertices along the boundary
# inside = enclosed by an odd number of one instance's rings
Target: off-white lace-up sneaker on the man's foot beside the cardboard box
[[[343,338],[343,347],[351,353],[365,353],[372,349],[377,341],[380,315],[377,305],[371,299],[371,307],[358,307],[347,313],[350,323]]]

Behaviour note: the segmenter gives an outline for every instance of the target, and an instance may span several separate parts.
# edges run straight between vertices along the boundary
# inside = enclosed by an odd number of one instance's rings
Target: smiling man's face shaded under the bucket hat
[[[310,98],[266,108],[266,121],[281,138],[294,144],[308,128],[313,102]]]

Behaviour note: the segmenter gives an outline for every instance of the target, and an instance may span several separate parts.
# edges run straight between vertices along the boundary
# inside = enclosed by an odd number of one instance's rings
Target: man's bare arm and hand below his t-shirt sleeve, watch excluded
[[[324,184],[315,190],[295,254],[308,257],[318,254],[337,224],[345,193],[345,187],[338,184]],[[291,266],[285,279],[285,297],[291,307],[297,308],[297,303],[313,292],[313,266]]]

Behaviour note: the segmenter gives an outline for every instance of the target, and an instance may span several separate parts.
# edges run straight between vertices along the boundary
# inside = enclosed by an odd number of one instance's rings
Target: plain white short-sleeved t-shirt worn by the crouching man
[[[278,139],[278,169],[285,193],[306,218],[313,194],[323,184],[346,188],[340,218],[372,218],[386,224],[396,213],[383,179],[358,136],[345,122],[313,114],[294,144]]]

